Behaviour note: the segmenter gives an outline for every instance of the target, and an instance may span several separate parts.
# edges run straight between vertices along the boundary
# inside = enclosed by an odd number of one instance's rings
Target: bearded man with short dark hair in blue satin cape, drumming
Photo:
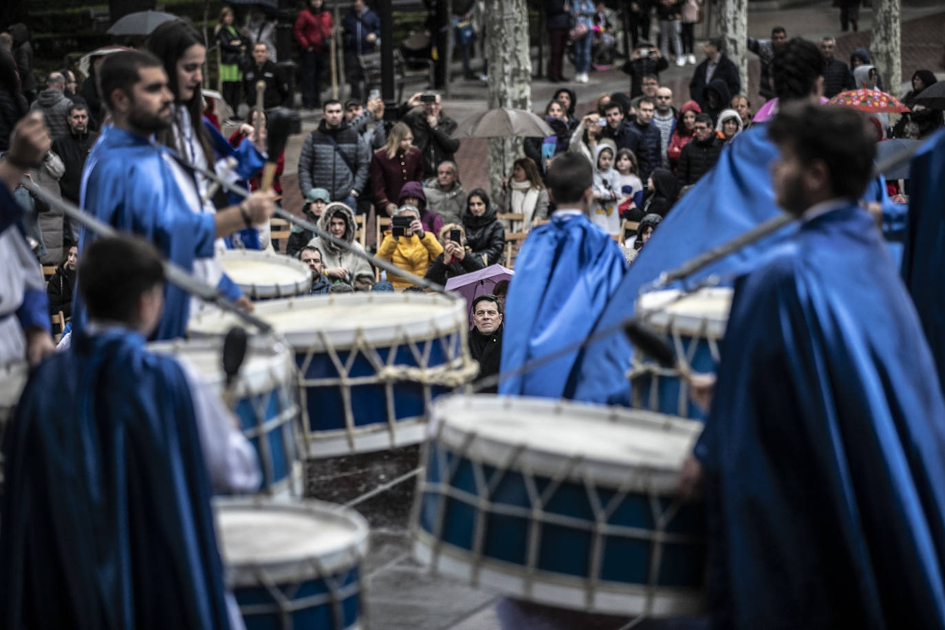
[[[80,201],[86,212],[119,230],[143,236],[173,263],[191,271],[198,258],[214,256],[218,237],[268,221],[275,194],[252,193],[238,206],[212,213],[187,207],[172,171],[174,158],[151,141],[172,123],[174,95],[160,60],[150,53],[114,53],[99,68],[102,100],[112,113],[112,127],[102,131],[86,163]],[[79,252],[95,239],[83,229]],[[183,336],[190,299],[180,288],[164,288],[164,311],[155,339]],[[74,326],[84,320],[81,296]]]

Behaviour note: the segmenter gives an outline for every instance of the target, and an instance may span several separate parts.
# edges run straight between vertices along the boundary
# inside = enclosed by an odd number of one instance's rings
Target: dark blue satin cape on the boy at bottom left
[[[141,335],[44,361],[4,455],[0,625],[229,627],[190,390]]]

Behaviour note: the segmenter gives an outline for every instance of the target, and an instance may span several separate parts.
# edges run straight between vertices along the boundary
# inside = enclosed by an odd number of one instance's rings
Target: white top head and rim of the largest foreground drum
[[[450,396],[430,408],[430,434],[455,451],[469,444],[465,453],[474,461],[549,477],[574,461],[570,479],[665,493],[703,426],[625,407],[525,397]]]

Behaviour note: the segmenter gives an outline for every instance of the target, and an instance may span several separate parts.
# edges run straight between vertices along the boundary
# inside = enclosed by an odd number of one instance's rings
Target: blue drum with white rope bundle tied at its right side
[[[421,442],[426,405],[477,371],[462,300],[355,293],[263,302],[262,317],[295,350],[301,424],[312,457]],[[195,336],[223,335],[232,315],[194,315]]]

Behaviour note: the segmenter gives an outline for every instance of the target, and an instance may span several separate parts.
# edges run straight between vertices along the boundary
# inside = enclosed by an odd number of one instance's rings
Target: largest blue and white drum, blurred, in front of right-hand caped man
[[[698,614],[703,512],[673,488],[701,428],[558,400],[438,400],[414,505],[415,555],[541,604]]]

